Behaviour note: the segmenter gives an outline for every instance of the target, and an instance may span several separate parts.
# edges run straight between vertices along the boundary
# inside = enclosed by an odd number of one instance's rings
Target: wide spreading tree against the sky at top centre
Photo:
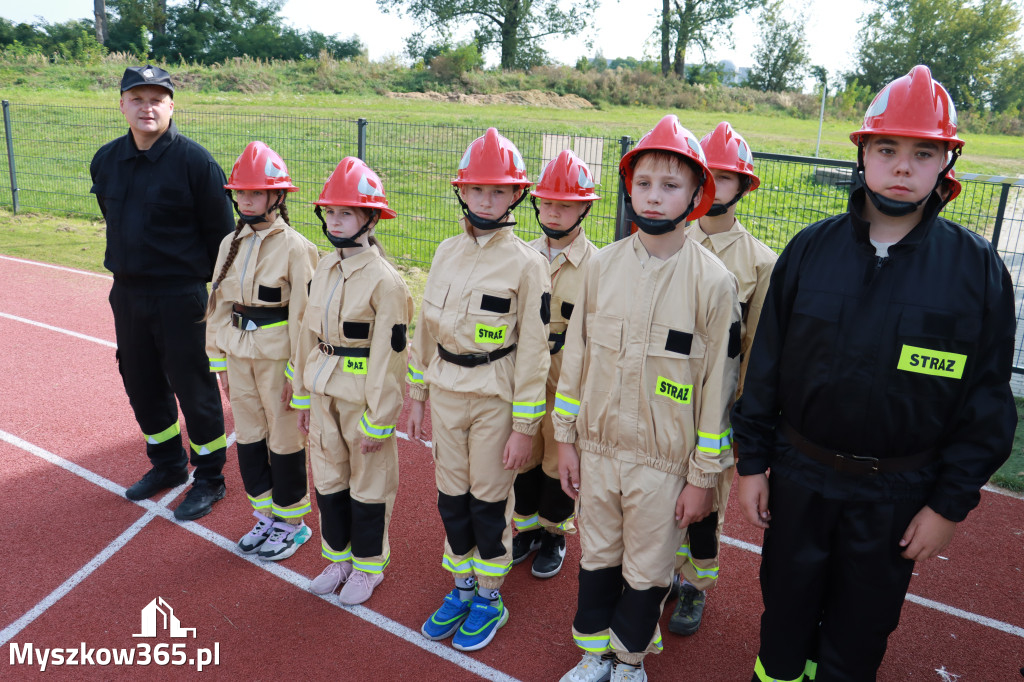
[[[450,39],[457,26],[472,23],[482,51],[497,47],[502,69],[525,69],[546,60],[541,39],[575,36],[586,31],[599,0],[574,0],[562,9],[560,0],[377,0],[384,13],[410,16],[420,31],[407,41],[414,59],[422,57],[427,34]]]

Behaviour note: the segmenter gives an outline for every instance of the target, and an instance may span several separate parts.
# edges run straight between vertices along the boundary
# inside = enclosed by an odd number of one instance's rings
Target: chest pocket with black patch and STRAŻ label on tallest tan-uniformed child
[[[653,323],[647,343],[645,384],[652,402],[691,406],[703,376],[707,342],[698,332]]]

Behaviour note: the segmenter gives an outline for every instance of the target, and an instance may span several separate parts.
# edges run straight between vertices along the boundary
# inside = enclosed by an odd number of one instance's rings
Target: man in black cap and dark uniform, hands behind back
[[[125,391],[153,468],[125,492],[144,500],[188,479],[178,404],[196,467],[174,510],[179,520],[210,513],[224,497],[224,415],[205,351],[206,283],[232,228],[224,172],[171,121],[174,84],[163,69],[130,67],[121,113],[130,128],[96,152],[92,193],[106,219],[103,265]]]

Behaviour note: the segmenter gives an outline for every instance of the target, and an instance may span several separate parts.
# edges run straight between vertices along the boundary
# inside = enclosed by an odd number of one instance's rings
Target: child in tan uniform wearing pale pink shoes
[[[329,562],[310,590],[331,594],[344,584],[338,600],[351,605],[371,597],[391,557],[394,430],[413,299],[374,236],[378,220],[395,212],[369,166],[342,159],[314,204],[335,251],[321,260],[309,289],[293,404],[309,434],[321,553]]]

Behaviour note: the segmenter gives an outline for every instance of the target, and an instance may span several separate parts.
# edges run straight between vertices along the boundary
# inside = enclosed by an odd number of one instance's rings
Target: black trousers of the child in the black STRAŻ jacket
[[[811,662],[814,682],[873,681],[913,571],[899,541],[924,503],[829,500],[778,473],[768,480],[759,668],[799,680]]]

